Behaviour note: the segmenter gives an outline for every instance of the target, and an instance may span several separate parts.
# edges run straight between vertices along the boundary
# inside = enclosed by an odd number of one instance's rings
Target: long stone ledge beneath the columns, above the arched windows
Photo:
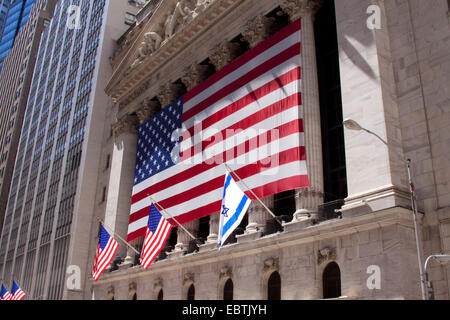
[[[157,261],[152,268],[145,270],[142,266],[135,266],[129,269],[114,271],[102,275],[97,282],[90,279],[92,285],[102,286],[114,283],[121,279],[137,278],[141,276],[158,275],[161,272],[177,270],[182,261],[183,268],[195,268],[198,265],[207,263],[227,263],[230,255],[233,258],[261,254],[280,250],[281,247],[298,246],[314,241],[321,241],[345,236],[357,232],[372,230],[374,228],[391,225],[401,225],[406,228],[413,228],[411,211],[401,207],[393,207],[386,210],[371,212],[351,219],[335,219],[323,223],[312,225],[303,230],[282,232],[259,238],[255,241],[237,243],[225,246],[220,250],[217,248],[209,251],[199,252],[192,255],[182,256],[174,259]]]

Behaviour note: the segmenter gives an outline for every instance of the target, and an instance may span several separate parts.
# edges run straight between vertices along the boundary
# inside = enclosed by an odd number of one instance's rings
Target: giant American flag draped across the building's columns
[[[173,225],[219,212],[223,162],[260,198],[309,186],[300,38],[297,20],[139,127],[128,241],[145,235],[150,196]]]

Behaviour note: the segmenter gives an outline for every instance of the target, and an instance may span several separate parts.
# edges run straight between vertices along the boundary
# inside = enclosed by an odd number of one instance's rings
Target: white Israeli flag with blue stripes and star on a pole
[[[250,203],[250,198],[242,192],[227,171],[223,187],[222,209],[220,211],[219,248],[241,223]]]

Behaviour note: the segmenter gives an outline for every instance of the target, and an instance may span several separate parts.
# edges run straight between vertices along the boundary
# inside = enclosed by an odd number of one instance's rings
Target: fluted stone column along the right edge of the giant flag
[[[288,0],[280,5],[291,21],[301,18],[303,121],[311,187],[295,191],[296,212],[292,222],[302,222],[302,226],[312,223],[317,217],[318,206],[323,203],[322,136],[314,39],[314,16],[321,3],[321,0]]]

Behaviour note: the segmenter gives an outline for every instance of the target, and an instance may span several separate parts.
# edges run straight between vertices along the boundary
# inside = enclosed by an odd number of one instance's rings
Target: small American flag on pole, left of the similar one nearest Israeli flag
[[[109,235],[103,226],[100,226],[100,237],[98,239],[97,252],[95,253],[94,269],[92,277],[95,281],[111,263],[117,252],[119,244]]]

